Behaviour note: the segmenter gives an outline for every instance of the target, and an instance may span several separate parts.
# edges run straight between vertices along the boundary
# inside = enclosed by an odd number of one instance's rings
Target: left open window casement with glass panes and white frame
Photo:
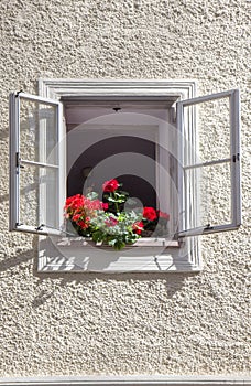
[[[62,104],[10,94],[10,230],[59,235],[65,197]]]

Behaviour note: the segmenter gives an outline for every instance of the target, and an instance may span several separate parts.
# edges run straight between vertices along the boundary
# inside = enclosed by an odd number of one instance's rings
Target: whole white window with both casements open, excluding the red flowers
[[[195,97],[193,82],[55,79],[40,94],[10,96],[10,230],[42,235],[40,269],[198,270],[197,236],[240,225],[238,90]],[[122,253],[65,237],[66,194],[110,178],[170,213],[168,237]]]

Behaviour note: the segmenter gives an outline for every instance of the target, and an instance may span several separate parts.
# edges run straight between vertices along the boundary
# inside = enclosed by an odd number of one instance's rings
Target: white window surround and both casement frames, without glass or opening
[[[10,187],[11,187],[11,216],[10,216],[10,230],[24,230],[34,232],[43,235],[55,235],[56,229],[50,226],[47,229],[46,225],[37,225],[33,229],[29,228],[29,224],[20,224],[19,222],[19,173],[20,173],[20,162],[19,162],[19,132],[20,132],[20,98],[26,98],[31,100],[37,100],[42,103],[47,103],[51,105],[58,106],[57,125],[62,129],[59,130],[62,136],[62,141],[59,141],[59,147],[64,148],[65,136],[64,136],[64,124],[62,107],[64,101],[88,101],[88,100],[124,100],[128,98],[138,100],[148,100],[164,98],[172,106],[173,121],[176,119],[177,115],[177,135],[185,136],[187,138],[186,146],[194,146],[196,141],[196,110],[194,108],[189,109],[189,114],[183,125],[184,107],[194,106],[208,100],[214,100],[218,98],[229,97],[230,101],[230,158],[209,160],[209,162],[199,163],[197,158],[195,159],[193,154],[186,160],[186,164],[183,162],[183,151],[184,146],[181,141],[178,147],[178,160],[182,173],[178,172],[178,190],[184,205],[185,213],[187,213],[187,222],[184,222],[184,212],[179,211],[179,224],[182,227],[176,234],[182,243],[168,242],[167,239],[149,239],[140,240],[132,248],[131,253],[128,253],[124,248],[119,255],[114,255],[112,251],[112,258],[106,260],[111,255],[111,249],[103,255],[103,249],[106,248],[91,248],[85,239],[66,239],[62,237],[54,239],[51,245],[50,243],[43,242],[40,244],[40,270],[77,270],[77,271],[107,271],[107,272],[119,272],[119,271],[196,271],[200,269],[199,254],[198,254],[198,239],[197,236],[205,233],[222,232],[237,229],[241,223],[241,199],[240,199],[240,116],[239,116],[239,90],[232,89],[228,92],[217,93],[212,95],[207,95],[203,97],[195,97],[195,82],[193,81],[78,81],[78,79],[41,79],[40,81],[40,96],[32,96],[24,93],[12,94],[10,98],[10,117],[11,117],[11,140],[10,140]],[[177,112],[176,112],[177,108]],[[185,128],[186,127],[186,128]],[[184,131],[185,130],[185,131]],[[176,132],[176,131],[175,131]],[[59,138],[58,138],[59,140]],[[179,143],[179,141],[178,141]],[[190,144],[189,144],[190,143]],[[65,175],[64,174],[64,152],[59,152],[59,185],[65,186]],[[189,154],[189,152],[188,152]],[[18,158],[17,158],[18,156]],[[18,160],[18,161],[17,161]],[[31,163],[31,161],[23,162]],[[229,224],[218,224],[218,225],[204,225],[196,227],[196,223],[189,223],[189,211],[190,207],[196,208],[196,202],[190,202],[187,200],[188,196],[193,199],[193,194],[188,194],[189,190],[195,189],[197,181],[197,170],[198,168],[207,167],[208,164],[214,165],[218,163],[228,162],[231,168],[231,223]],[[32,162],[35,165],[37,162]],[[48,164],[46,164],[48,165]],[[50,165],[48,165],[50,167]],[[186,185],[187,193],[183,192],[183,180],[184,171],[186,169],[195,170],[195,176],[192,176]],[[15,173],[14,173],[15,172]],[[14,175],[15,174],[15,175]],[[14,181],[15,179],[15,181]],[[18,187],[18,189],[17,189]],[[62,203],[58,203],[59,207],[64,206],[63,190],[59,194]],[[13,200],[14,199],[14,200]],[[43,196],[42,196],[43,199]],[[184,200],[185,199],[185,200]],[[187,211],[189,208],[189,211]],[[61,211],[59,211],[61,212]],[[195,211],[197,213],[197,210]],[[15,218],[15,224],[13,218]],[[46,218],[45,218],[46,221]],[[14,226],[13,226],[14,224]],[[195,224],[195,225],[194,225]],[[194,228],[193,228],[194,226]],[[58,225],[59,228],[59,225]],[[62,236],[62,234],[61,234]],[[192,237],[188,237],[192,236]],[[45,237],[46,239],[46,237]],[[168,245],[166,243],[168,242]],[[176,243],[176,244],[175,244]],[[161,244],[161,245],[160,245]],[[175,244],[175,245],[174,245]],[[83,246],[85,245],[85,248]],[[173,247],[178,248],[173,248]],[[140,248],[139,248],[140,247]],[[151,248],[149,248],[151,247]],[[159,249],[157,249],[159,248]],[[91,250],[92,249],[92,250]],[[101,253],[100,253],[101,251]],[[126,251],[126,253],[124,253]],[[42,253],[42,255],[41,255]],[[47,256],[45,256],[47,255]],[[133,256],[133,257],[132,257]]]

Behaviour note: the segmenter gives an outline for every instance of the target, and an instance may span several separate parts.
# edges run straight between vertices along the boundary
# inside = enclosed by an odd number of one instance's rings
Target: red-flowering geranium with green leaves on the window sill
[[[155,230],[159,236],[166,234],[168,214],[153,207],[124,210],[131,199],[114,179],[106,181],[102,190],[102,201],[95,192],[66,200],[65,217],[79,236],[120,250]]]

